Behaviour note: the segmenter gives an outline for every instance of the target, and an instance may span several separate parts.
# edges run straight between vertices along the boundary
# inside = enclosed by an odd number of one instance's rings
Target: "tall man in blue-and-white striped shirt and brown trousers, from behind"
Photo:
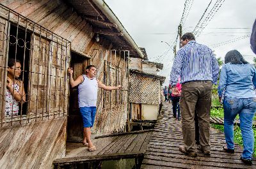
[[[180,43],[184,47],[177,52],[170,75],[170,84],[176,85],[179,77],[182,84],[180,112],[184,146],[179,149],[188,156],[197,156],[194,121],[196,110],[200,149],[205,156],[209,156],[211,91],[212,84],[217,84],[218,80],[218,62],[209,47],[196,43],[192,33],[184,34]]]

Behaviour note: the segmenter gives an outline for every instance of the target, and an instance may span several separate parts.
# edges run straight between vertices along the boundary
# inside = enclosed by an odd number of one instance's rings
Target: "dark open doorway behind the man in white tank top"
[[[71,52],[70,68],[74,71],[73,78],[76,79],[79,75],[84,74],[84,69],[89,63],[88,57]],[[83,121],[78,107],[77,86],[70,87],[67,135],[68,141],[80,142],[83,139]]]

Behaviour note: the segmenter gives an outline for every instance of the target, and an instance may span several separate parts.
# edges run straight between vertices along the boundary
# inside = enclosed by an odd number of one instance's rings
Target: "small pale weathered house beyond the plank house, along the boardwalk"
[[[147,59],[145,49],[142,50]],[[161,104],[161,85],[165,77],[157,75],[163,64],[132,58],[130,62],[130,106],[132,126],[150,126],[157,120]]]

